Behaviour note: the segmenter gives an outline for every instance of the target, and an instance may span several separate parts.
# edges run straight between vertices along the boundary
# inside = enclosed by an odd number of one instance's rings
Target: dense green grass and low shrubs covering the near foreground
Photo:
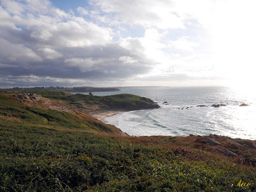
[[[120,142],[80,131],[1,126],[1,191],[245,191],[255,167],[198,150]],[[205,161],[204,159],[208,159]],[[238,188],[242,179],[253,182]]]

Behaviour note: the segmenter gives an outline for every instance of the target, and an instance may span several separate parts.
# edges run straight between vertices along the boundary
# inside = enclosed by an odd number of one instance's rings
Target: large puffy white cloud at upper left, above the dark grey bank
[[[2,0],[0,25],[22,25],[30,36],[41,42],[67,47],[105,45],[112,41],[112,29],[100,27],[52,6],[47,0],[14,2]],[[15,9],[12,9],[14,6]],[[15,11],[16,10],[16,11]],[[85,10],[79,8],[85,13]],[[13,14],[13,16],[10,15]]]

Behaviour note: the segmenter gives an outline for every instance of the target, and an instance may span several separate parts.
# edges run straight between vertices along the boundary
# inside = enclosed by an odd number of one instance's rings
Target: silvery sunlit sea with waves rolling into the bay
[[[256,140],[256,97],[246,90],[216,87],[136,88],[121,92],[98,92],[94,95],[130,93],[157,101],[160,109],[121,112],[106,118],[129,135],[226,135]],[[88,93],[85,93],[88,94]],[[163,102],[168,101],[169,105]],[[239,105],[249,104],[246,107]],[[197,105],[226,104],[219,108]],[[178,107],[191,107],[178,109]]]

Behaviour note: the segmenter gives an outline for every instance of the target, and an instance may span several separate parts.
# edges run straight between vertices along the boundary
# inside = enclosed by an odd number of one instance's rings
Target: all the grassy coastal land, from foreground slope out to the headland
[[[88,115],[152,102],[129,94],[1,92],[0,191],[256,191],[256,141],[129,136]]]

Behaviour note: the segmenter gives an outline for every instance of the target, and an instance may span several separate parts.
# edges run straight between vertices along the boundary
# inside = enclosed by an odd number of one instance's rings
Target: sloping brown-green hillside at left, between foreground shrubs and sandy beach
[[[40,126],[49,129],[64,127],[66,129],[81,129],[87,131],[119,132],[112,125],[104,124],[85,113],[75,111],[65,112],[53,109],[44,109],[44,103],[24,103],[22,99],[13,95],[0,94],[0,120],[1,126],[20,127]],[[58,103],[55,103],[56,105]],[[35,106],[40,107],[35,107]],[[60,105],[60,104],[59,104]],[[62,104],[63,105],[63,104]]]

